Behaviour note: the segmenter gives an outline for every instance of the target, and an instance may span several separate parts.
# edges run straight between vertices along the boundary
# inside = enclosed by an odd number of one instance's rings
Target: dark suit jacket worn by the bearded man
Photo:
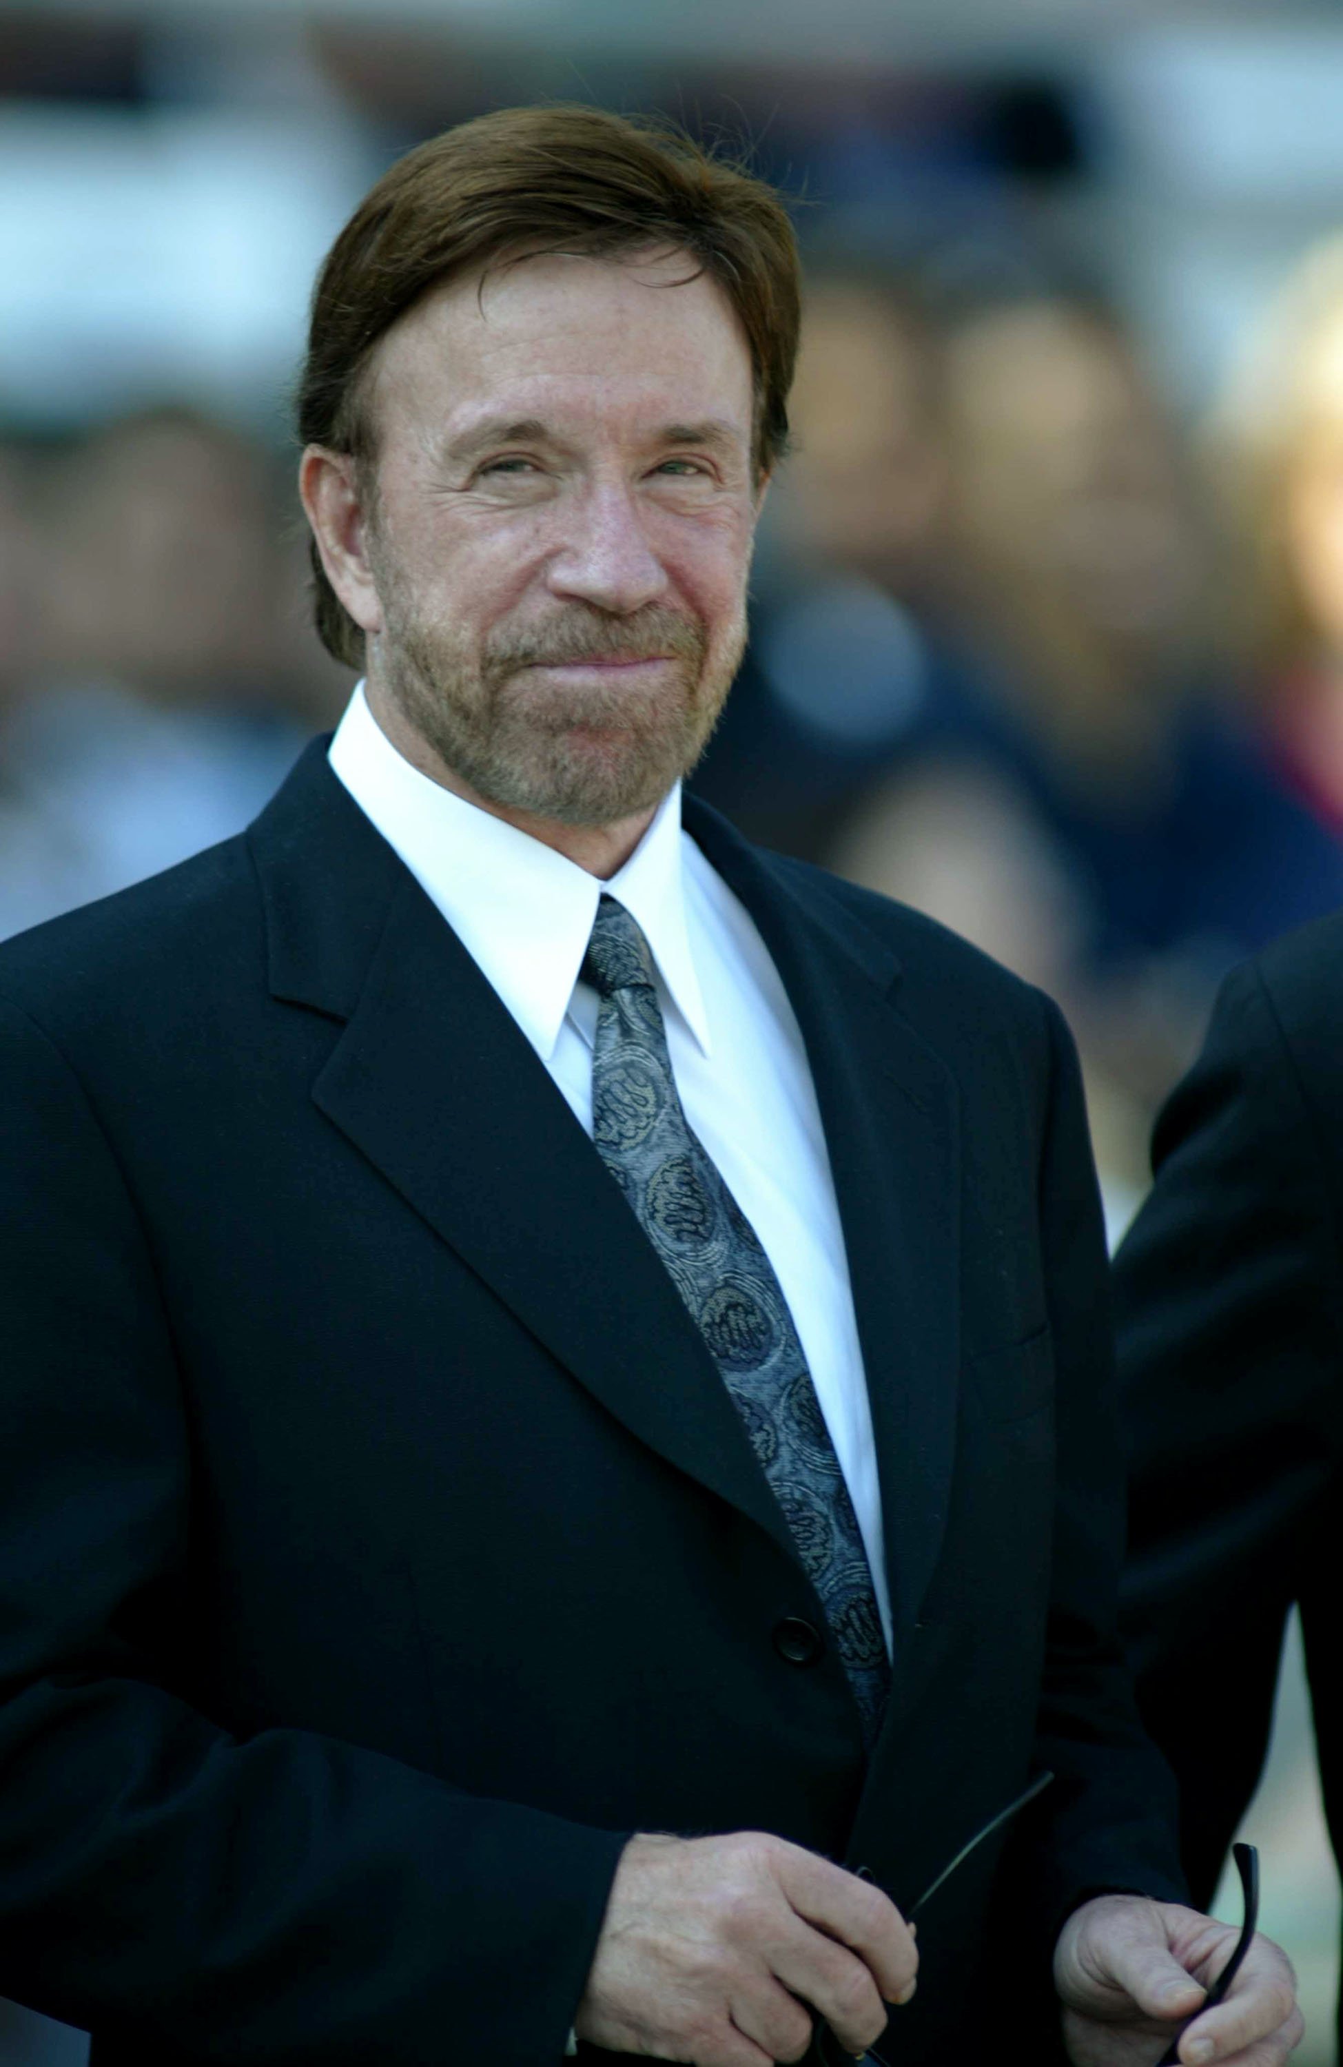
[[[909,1904],[1052,1767],[922,1918],[909,2067],[1023,2015],[994,1947],[1043,1988],[1089,1889],[1180,1891],[1060,1019],[686,823],[816,1077],[880,1745],[775,1645],[820,1606],[672,1282],[316,744],[246,837],[0,949],[0,1988],[95,2067],[558,2061],[634,1829],[779,1831]]]

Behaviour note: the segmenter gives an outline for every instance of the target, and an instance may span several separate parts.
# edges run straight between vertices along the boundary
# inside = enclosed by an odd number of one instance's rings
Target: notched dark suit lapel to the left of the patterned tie
[[[312,1096],[632,1434],[795,1556],[672,1279],[550,1073],[409,874]]]

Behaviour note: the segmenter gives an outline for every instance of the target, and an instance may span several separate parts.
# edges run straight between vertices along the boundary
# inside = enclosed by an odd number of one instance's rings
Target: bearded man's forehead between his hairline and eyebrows
[[[382,339],[372,401],[384,434],[504,409],[612,430],[715,415],[748,440],[750,349],[688,252],[543,254],[428,294]]]

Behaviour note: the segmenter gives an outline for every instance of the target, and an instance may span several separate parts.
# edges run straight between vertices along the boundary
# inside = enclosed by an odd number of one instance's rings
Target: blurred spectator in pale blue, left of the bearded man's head
[[[291,591],[258,446],[161,407],[97,428],[27,486],[0,934],[240,831],[310,732],[281,659]]]

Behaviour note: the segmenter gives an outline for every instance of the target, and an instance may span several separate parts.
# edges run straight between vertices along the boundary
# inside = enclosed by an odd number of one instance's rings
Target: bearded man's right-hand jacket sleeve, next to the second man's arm
[[[1186,1889],[1172,1778],[1138,1724],[1118,1639],[1124,1472],[1105,1238],[1076,1052],[1054,1005],[1048,1025],[1039,1222],[1054,1335],[1056,1509],[1035,1763],[1056,1778],[1021,1831],[1021,1869],[1052,1949],[1089,1895],[1124,1889],[1180,1902]]]

